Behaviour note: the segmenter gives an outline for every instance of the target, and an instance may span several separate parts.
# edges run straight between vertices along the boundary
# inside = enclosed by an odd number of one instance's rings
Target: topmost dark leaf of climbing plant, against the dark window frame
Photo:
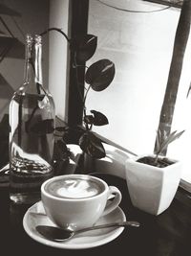
[[[71,49],[76,53],[76,60],[85,62],[96,52],[96,35],[79,35],[71,42]]]

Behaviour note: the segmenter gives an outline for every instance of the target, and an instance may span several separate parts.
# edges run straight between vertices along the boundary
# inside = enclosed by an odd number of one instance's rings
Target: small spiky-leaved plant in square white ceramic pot
[[[180,183],[181,163],[162,156],[161,152],[183,132],[173,131],[161,140],[158,131],[154,154],[127,159],[127,186],[132,203],[138,209],[159,215],[171,204]]]

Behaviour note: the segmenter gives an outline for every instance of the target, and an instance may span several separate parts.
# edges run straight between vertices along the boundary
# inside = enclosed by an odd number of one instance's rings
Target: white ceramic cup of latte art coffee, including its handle
[[[96,176],[60,175],[42,184],[41,199],[54,224],[76,230],[93,226],[101,216],[114,211],[121,193]]]

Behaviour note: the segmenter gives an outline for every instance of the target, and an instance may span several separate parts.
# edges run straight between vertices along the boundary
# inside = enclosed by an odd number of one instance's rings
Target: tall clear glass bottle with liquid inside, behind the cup
[[[24,82],[10,104],[10,198],[40,199],[40,186],[53,176],[53,97],[42,83],[42,39],[26,36]]]

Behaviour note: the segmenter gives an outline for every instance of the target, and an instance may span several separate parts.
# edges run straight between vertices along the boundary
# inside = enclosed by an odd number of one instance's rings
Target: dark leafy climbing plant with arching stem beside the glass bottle
[[[86,99],[91,89],[96,92],[101,92],[111,84],[115,77],[115,64],[110,59],[103,58],[97,60],[89,67],[85,65],[86,61],[92,58],[96,52],[96,35],[77,35],[76,37],[70,39],[65,33],[62,32],[62,30],[57,28],[50,28],[41,35],[45,35],[53,30],[61,33],[67,39],[70,50],[73,53],[73,68],[86,68],[84,77],[85,93],[84,95],[80,94],[83,106],[82,126],[78,126],[76,128],[55,128],[56,131],[63,133],[61,135],[61,141],[57,140],[55,144],[55,164],[56,168],[62,166],[62,164],[60,165],[57,163],[60,162],[60,160],[62,162],[62,159],[65,161],[68,155],[70,155],[70,152],[69,154],[66,152],[68,150],[70,151],[70,145],[65,147],[64,144],[68,142],[68,138],[71,137],[71,134],[72,136],[74,134],[74,136],[77,136],[77,145],[82,151],[80,158],[78,159],[78,171],[76,170],[76,172],[83,172],[82,169],[84,169],[84,162],[87,155],[95,159],[103,158],[106,155],[101,139],[96,135],[95,132],[93,132],[92,128],[94,126],[105,126],[109,123],[107,117],[103,113],[96,111],[95,109],[91,109],[90,111],[87,110]],[[79,89],[81,85],[78,81],[77,72],[75,72],[75,76],[77,87]],[[79,91],[80,89],[76,91],[76,93],[79,93]],[[71,155],[72,154],[73,152],[71,152]]]

